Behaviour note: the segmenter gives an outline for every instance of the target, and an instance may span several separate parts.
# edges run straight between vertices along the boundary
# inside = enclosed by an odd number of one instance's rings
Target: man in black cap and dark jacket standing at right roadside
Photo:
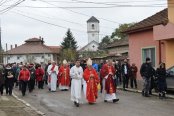
[[[140,74],[141,74],[143,81],[144,81],[142,95],[145,97],[149,97],[151,78],[153,77],[154,73],[155,73],[155,70],[151,65],[150,58],[146,58],[146,62],[143,63],[141,68],[140,68]]]

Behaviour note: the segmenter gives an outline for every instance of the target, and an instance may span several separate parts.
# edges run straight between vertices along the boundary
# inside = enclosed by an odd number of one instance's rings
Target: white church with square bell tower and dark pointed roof
[[[99,47],[99,20],[92,16],[87,20],[88,44],[82,47],[79,52],[97,51]]]

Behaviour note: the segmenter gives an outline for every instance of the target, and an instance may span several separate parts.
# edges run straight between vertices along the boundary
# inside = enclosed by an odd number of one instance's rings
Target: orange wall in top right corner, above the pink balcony
[[[168,19],[170,23],[174,23],[174,0],[167,0],[168,2]]]

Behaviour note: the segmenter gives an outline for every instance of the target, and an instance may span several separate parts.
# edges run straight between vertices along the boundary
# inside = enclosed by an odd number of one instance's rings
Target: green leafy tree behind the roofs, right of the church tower
[[[125,24],[119,25],[119,27],[116,28],[115,31],[112,33],[111,38],[113,38],[113,39],[123,39],[123,38],[125,38],[126,34],[124,34],[122,32],[125,31],[126,29],[128,29],[129,27],[131,27],[134,24],[135,23],[125,23]]]

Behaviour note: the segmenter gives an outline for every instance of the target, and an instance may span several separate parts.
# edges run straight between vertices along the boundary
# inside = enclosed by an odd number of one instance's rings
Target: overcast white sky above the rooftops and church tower
[[[138,22],[167,6],[167,0],[0,0],[2,46],[43,37],[46,45],[63,41],[68,28],[79,47],[87,44],[86,21],[100,20],[100,40],[119,24]]]

